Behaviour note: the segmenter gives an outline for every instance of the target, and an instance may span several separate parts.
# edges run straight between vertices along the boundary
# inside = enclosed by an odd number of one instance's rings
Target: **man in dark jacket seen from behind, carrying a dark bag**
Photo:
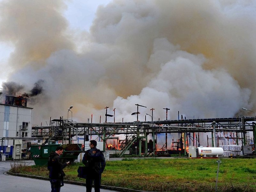
[[[92,181],[94,181],[94,191],[100,192],[101,173],[104,171],[106,161],[103,153],[96,148],[97,141],[90,140],[90,148],[83,157],[83,164],[88,167],[86,175],[86,192],[92,191]]]

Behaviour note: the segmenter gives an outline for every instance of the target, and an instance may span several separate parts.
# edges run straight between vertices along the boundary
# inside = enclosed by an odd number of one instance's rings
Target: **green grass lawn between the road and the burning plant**
[[[77,167],[65,168],[66,180],[84,182],[77,178]],[[187,158],[125,158],[107,161],[102,174],[102,185],[139,189],[144,191],[215,191],[217,159]],[[11,172],[48,177],[46,167],[18,166]],[[256,159],[221,159],[218,191],[256,191]]]

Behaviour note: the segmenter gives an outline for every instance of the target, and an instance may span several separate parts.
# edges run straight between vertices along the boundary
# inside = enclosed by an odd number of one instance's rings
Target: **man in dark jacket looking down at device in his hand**
[[[63,172],[63,169],[69,164],[69,162],[61,163],[60,156],[62,153],[63,148],[58,146],[56,151],[52,151],[49,155],[48,170],[52,192],[60,192],[60,187],[64,185],[63,178],[65,173]]]

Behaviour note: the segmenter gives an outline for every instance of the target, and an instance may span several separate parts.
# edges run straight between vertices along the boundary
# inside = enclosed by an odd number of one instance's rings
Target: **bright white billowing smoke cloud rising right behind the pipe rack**
[[[187,118],[224,117],[233,116],[234,111],[249,99],[250,90],[240,88],[223,69],[203,69],[206,61],[203,55],[180,51],[166,39],[156,39],[154,45],[156,48],[148,64],[159,63],[161,69],[139,95],[127,99],[118,97],[114,101],[114,106],[120,111],[124,110],[120,106],[126,102],[158,106],[159,109],[172,106],[172,119],[176,119],[174,114],[178,111]],[[149,109],[143,111],[145,114]],[[156,110],[157,119],[154,120],[163,119],[164,113],[165,110]]]

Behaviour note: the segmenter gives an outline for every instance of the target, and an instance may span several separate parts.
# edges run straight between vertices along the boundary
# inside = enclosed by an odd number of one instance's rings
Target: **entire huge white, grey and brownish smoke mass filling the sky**
[[[81,123],[91,114],[104,122],[106,106],[116,122],[137,120],[135,104],[147,107],[140,121],[151,108],[153,120],[165,119],[163,108],[168,119],[256,110],[256,2],[113,0],[89,32],[68,28],[65,2],[0,4],[0,40],[15,47],[8,81],[27,90],[43,82],[28,101],[34,124],[66,118],[70,105]]]

